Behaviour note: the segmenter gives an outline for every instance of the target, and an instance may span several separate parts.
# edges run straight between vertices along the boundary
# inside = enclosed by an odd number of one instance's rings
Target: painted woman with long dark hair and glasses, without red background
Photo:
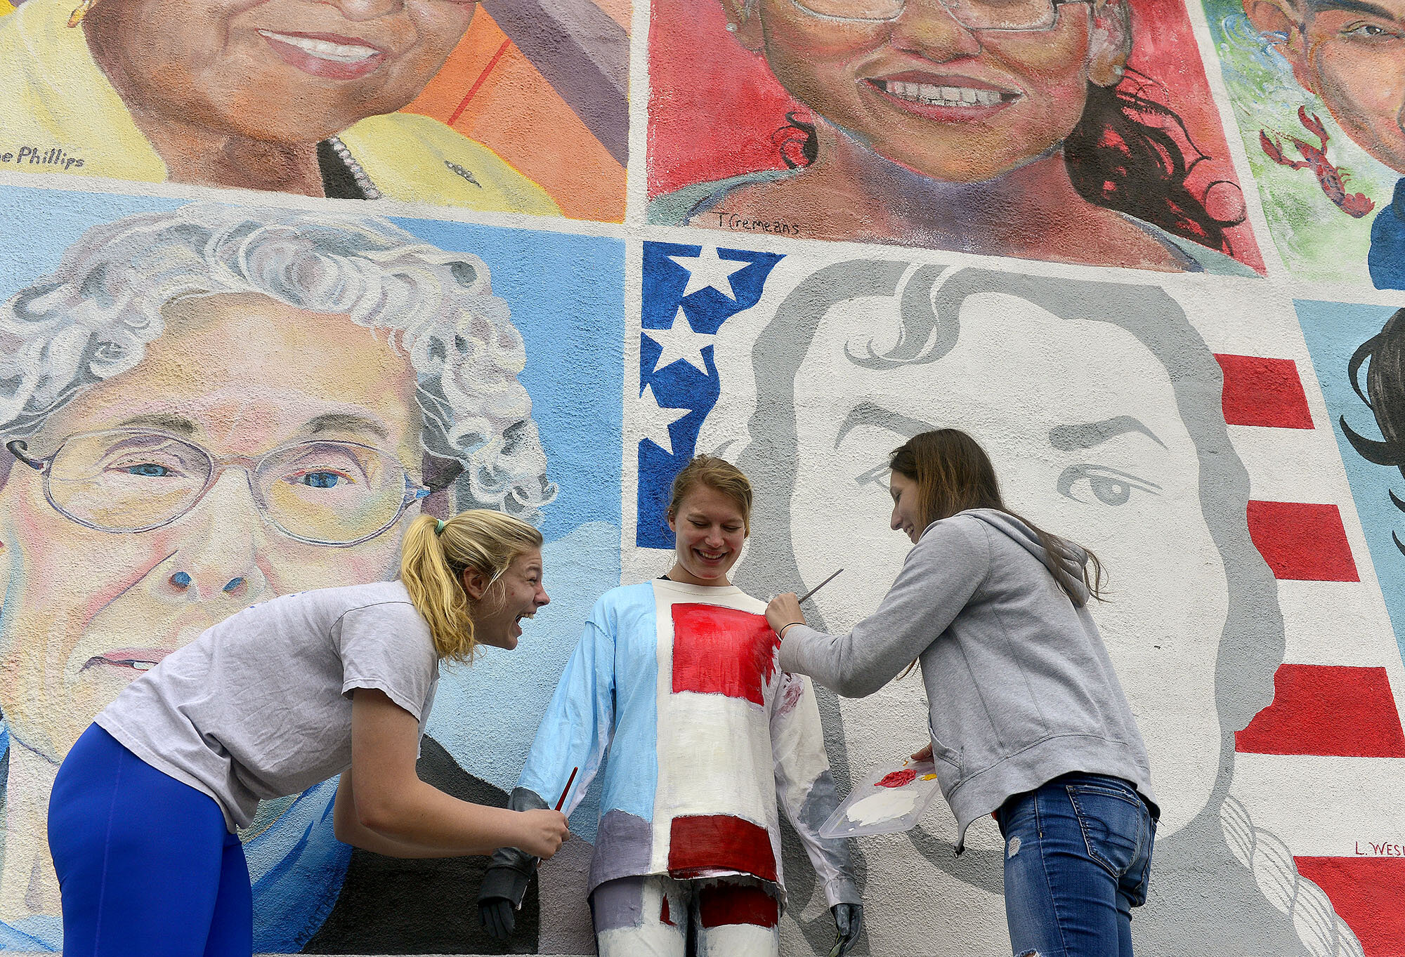
[[[1127,69],[1128,0],[721,3],[812,122],[781,130],[794,168],[684,187],[651,222],[738,213],[805,237],[1248,271],[1186,185],[1184,125]]]

